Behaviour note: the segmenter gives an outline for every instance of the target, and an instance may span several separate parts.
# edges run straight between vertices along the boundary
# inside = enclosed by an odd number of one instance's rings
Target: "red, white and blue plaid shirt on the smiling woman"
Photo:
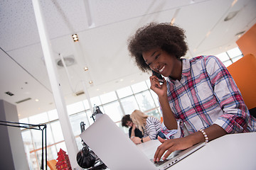
[[[164,127],[167,138],[183,137],[213,124],[228,133],[256,131],[256,119],[217,57],[182,59],[181,81],[168,78],[167,94],[178,123],[178,130]]]

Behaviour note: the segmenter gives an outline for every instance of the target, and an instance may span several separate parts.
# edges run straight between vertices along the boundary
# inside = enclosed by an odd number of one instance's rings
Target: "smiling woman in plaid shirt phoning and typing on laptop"
[[[255,118],[217,57],[181,59],[188,50],[185,38],[184,31],[170,23],[151,23],[129,39],[129,52],[137,66],[167,77],[161,85],[156,76],[149,77],[151,90],[159,97],[164,125],[176,130],[167,134],[170,140],[161,140],[163,144],[154,155],[156,162],[166,151],[163,159],[175,150],[227,133],[256,131]]]

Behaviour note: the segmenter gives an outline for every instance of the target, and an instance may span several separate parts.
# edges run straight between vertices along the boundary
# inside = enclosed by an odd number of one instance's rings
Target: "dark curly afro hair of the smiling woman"
[[[185,42],[186,35],[182,28],[171,26],[170,23],[149,23],[139,28],[137,32],[128,39],[128,50],[131,57],[142,72],[148,72],[150,67],[142,57],[142,52],[148,52],[156,47],[174,55],[178,59],[186,55],[188,46]]]

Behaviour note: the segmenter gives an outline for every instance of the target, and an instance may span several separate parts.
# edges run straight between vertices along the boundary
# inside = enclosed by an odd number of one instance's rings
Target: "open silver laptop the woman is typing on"
[[[107,114],[101,115],[95,123],[81,133],[80,137],[111,170],[168,169],[205,145],[203,142],[188,149],[173,152],[167,158],[168,160],[155,164]]]

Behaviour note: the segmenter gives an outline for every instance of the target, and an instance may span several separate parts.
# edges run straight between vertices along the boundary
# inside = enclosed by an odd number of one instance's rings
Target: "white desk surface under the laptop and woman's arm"
[[[153,158],[159,145],[158,140],[151,140],[137,146],[147,157]],[[256,132],[230,134],[212,140],[168,170],[171,169],[255,170]]]

